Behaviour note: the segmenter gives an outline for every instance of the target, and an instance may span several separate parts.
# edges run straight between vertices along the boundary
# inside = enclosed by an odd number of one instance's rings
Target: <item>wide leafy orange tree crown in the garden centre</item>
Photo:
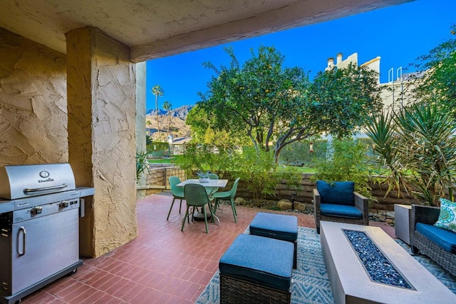
[[[213,129],[247,136],[257,152],[274,151],[275,161],[290,143],[323,132],[346,136],[381,108],[378,75],[366,68],[350,65],[310,81],[303,69],[284,67],[274,47],[252,50],[243,65],[232,48],[225,51],[229,66],[204,64],[215,74],[197,108]]]

